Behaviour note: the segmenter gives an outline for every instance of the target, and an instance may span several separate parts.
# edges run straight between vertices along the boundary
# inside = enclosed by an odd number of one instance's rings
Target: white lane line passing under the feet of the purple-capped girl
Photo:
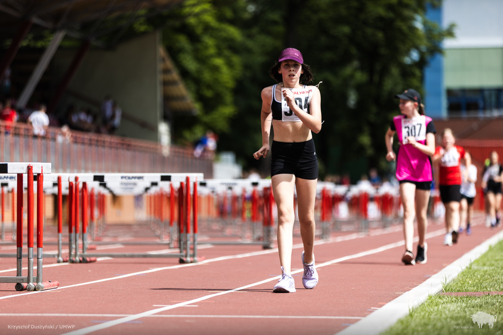
[[[433,232],[427,234],[427,238],[428,237],[442,235],[444,233],[445,233],[444,229],[436,230],[436,231],[433,231]],[[417,239],[417,237],[415,239]],[[391,248],[394,248],[394,247],[397,247],[397,246],[400,246],[400,245],[404,245],[404,244],[405,244],[405,242],[403,240],[398,241],[398,242],[394,242],[394,243],[389,243],[389,244],[386,244],[386,245],[378,247],[378,248],[367,250],[365,252],[361,252],[361,253],[350,255],[350,256],[341,257],[341,258],[338,258],[338,259],[335,259],[335,260],[332,260],[332,261],[329,261],[329,262],[318,264],[316,266],[316,268],[322,268],[322,267],[325,267],[325,266],[328,266],[328,265],[332,265],[332,264],[335,264],[335,263],[340,263],[340,262],[344,262],[344,261],[347,261],[347,260],[351,260],[351,259],[355,259],[355,258],[360,258],[360,257],[363,257],[363,256],[372,255],[372,254],[377,254],[377,253],[383,252],[384,250],[391,249]],[[299,269],[299,270],[296,270],[296,271],[292,271],[292,274],[300,273],[300,272],[303,272],[303,271],[304,271],[304,269]],[[262,284],[265,284],[265,283],[268,283],[268,282],[271,282],[271,281],[274,281],[274,280],[278,280],[280,277],[281,276],[276,276],[276,277],[272,277],[272,278],[269,278],[269,279],[262,280],[260,282],[256,282],[256,283],[253,283],[253,284],[248,284],[248,285],[245,285],[245,286],[241,286],[241,287],[238,287],[238,288],[235,288],[235,289],[232,289],[232,290],[223,291],[223,292],[214,293],[214,294],[209,294],[209,295],[206,295],[206,296],[203,296],[203,297],[199,297],[199,298],[192,299],[192,300],[189,300],[189,301],[184,301],[184,302],[181,302],[181,303],[178,303],[178,304],[175,304],[175,305],[171,305],[171,306],[166,306],[166,307],[160,307],[160,308],[156,308],[156,309],[151,309],[151,310],[148,310],[148,311],[145,311],[145,312],[142,312],[142,313],[125,316],[125,317],[122,317],[122,318],[119,318],[119,319],[116,319],[116,320],[111,320],[111,321],[103,322],[101,324],[96,324],[96,325],[92,325],[92,326],[89,326],[89,327],[86,327],[86,328],[80,328],[80,329],[77,329],[77,330],[74,330],[74,331],[66,332],[63,335],[82,335],[82,334],[88,334],[88,333],[93,332],[93,331],[106,329],[106,328],[109,328],[109,327],[112,327],[112,326],[115,326],[115,325],[118,325],[118,324],[126,323],[126,322],[129,322],[129,321],[132,321],[132,320],[136,320],[136,319],[139,319],[139,318],[143,318],[143,317],[149,316],[149,315],[157,314],[157,313],[160,313],[160,312],[163,312],[163,311],[166,311],[166,310],[171,310],[171,309],[175,309],[175,308],[186,306],[186,305],[192,305],[192,304],[195,304],[197,302],[208,300],[208,299],[220,296],[220,295],[224,295],[224,294],[228,294],[228,293],[232,293],[232,292],[236,292],[236,291],[240,291],[240,290],[245,290],[245,289],[250,288],[250,287],[259,286],[259,285],[262,285]],[[40,292],[43,292],[43,291],[40,291]]]

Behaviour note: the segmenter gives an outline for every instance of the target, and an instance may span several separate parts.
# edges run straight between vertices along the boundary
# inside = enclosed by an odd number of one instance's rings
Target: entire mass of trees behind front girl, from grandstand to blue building
[[[285,47],[302,51],[320,85],[323,126],[313,137],[321,177],[387,169],[384,134],[398,113],[394,95],[422,90],[428,59],[453,36],[425,18],[428,0],[202,0],[164,31],[164,41],[198,102],[192,135],[211,128],[219,150],[257,166],[260,92]],[[424,94],[423,94],[424,95]],[[428,113],[428,106],[426,106]],[[190,122],[194,123],[194,119]],[[177,129],[175,129],[175,133]],[[263,169],[265,170],[265,168]]]

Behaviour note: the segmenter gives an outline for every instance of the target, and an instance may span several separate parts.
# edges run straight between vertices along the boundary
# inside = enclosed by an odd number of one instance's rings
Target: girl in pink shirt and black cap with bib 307
[[[435,153],[435,125],[425,115],[421,96],[415,90],[405,90],[397,94],[400,99],[400,115],[395,116],[386,132],[385,141],[388,161],[396,159],[396,179],[400,183],[400,197],[403,204],[403,235],[405,253],[402,262],[405,265],[427,262],[427,243],[425,241],[428,226],[427,210],[433,181],[432,160]],[[393,151],[393,136],[398,138],[398,152]],[[417,253],[412,254],[414,237],[414,217],[417,218]]]

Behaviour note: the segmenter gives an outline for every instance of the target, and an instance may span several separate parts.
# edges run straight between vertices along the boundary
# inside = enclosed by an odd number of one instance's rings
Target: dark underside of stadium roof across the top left
[[[111,48],[134,23],[165,14],[185,0],[0,0],[1,38],[12,38],[21,22],[31,34],[65,30],[76,39]]]

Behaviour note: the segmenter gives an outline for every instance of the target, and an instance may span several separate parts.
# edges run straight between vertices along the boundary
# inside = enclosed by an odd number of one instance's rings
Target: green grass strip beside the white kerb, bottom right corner
[[[503,241],[490,247],[456,279],[444,285],[444,292],[486,291],[503,291]],[[479,327],[479,324],[472,320],[472,315],[478,312],[495,316],[492,328],[488,323]],[[475,318],[477,319],[477,316]],[[503,296],[433,295],[382,334],[503,335]]]

